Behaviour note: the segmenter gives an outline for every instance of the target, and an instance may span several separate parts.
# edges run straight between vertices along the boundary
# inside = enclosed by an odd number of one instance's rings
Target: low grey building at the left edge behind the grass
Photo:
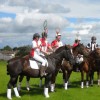
[[[15,57],[14,51],[0,51],[0,60],[9,60]]]

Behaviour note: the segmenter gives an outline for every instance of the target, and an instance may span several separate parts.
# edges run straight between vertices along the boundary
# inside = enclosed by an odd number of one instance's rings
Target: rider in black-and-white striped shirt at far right
[[[95,36],[91,37],[91,43],[88,43],[87,48],[90,49],[90,51],[93,51],[96,48],[98,48],[98,44],[96,43],[96,37]]]

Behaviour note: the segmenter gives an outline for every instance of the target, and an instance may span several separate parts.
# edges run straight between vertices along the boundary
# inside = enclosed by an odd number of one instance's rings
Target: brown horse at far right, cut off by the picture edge
[[[100,48],[91,51],[85,64],[89,67],[90,85],[93,86],[94,72],[97,72],[100,86]]]

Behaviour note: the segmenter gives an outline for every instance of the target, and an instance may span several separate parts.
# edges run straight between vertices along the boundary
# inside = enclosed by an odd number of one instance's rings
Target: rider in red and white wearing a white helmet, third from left
[[[61,41],[61,34],[59,32],[56,33],[56,39],[52,41],[51,47],[56,50],[57,48],[63,46]]]

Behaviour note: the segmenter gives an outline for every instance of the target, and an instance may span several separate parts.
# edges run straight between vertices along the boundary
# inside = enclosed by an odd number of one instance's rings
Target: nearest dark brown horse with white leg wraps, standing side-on
[[[46,69],[47,75],[44,76],[45,84],[44,84],[44,96],[49,97],[48,87],[51,81],[52,73],[58,69],[58,63],[61,63],[63,58],[68,60],[71,64],[74,63],[74,58],[70,50],[62,50],[58,54],[52,53],[49,56],[46,56],[48,61],[48,67]],[[7,64],[7,72],[10,75],[10,80],[8,82],[7,89],[7,98],[12,99],[11,97],[11,88],[14,89],[16,97],[20,97],[19,92],[17,90],[17,80],[19,75],[25,75],[32,78],[40,78],[39,69],[32,69],[29,63],[29,57],[9,60]]]

